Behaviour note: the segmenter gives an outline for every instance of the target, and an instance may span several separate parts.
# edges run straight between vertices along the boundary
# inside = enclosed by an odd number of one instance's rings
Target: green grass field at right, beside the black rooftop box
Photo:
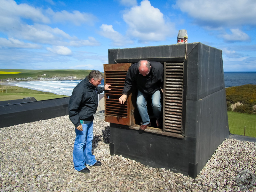
[[[236,135],[256,137],[256,115],[228,111],[229,131]]]

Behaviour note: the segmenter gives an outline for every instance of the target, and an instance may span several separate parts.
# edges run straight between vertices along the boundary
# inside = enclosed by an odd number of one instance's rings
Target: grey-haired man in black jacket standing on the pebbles
[[[89,173],[86,165],[100,166],[101,162],[92,155],[93,114],[98,106],[98,94],[109,89],[109,84],[98,87],[103,79],[100,71],[92,70],[74,88],[69,100],[69,119],[76,127],[76,140],[73,149],[73,162],[77,171]]]

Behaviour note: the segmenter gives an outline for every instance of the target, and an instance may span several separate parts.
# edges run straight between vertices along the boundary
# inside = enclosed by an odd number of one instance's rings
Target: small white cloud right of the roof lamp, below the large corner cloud
[[[251,38],[240,29],[230,29],[231,34],[223,34],[223,37],[227,42],[238,42],[238,41],[250,41]]]

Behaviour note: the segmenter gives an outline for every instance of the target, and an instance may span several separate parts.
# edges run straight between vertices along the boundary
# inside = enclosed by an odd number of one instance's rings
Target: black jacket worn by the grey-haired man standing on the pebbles
[[[75,125],[79,126],[80,120],[86,123],[93,121],[93,114],[98,107],[98,94],[104,91],[104,87],[96,87],[84,78],[74,88],[68,104],[69,119]]]

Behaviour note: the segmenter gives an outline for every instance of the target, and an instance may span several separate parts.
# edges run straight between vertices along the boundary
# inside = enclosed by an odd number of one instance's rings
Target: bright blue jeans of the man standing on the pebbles
[[[95,156],[92,155],[93,122],[82,124],[83,131],[76,129],[76,140],[73,150],[73,162],[77,171],[84,169],[86,165],[96,163]]]

